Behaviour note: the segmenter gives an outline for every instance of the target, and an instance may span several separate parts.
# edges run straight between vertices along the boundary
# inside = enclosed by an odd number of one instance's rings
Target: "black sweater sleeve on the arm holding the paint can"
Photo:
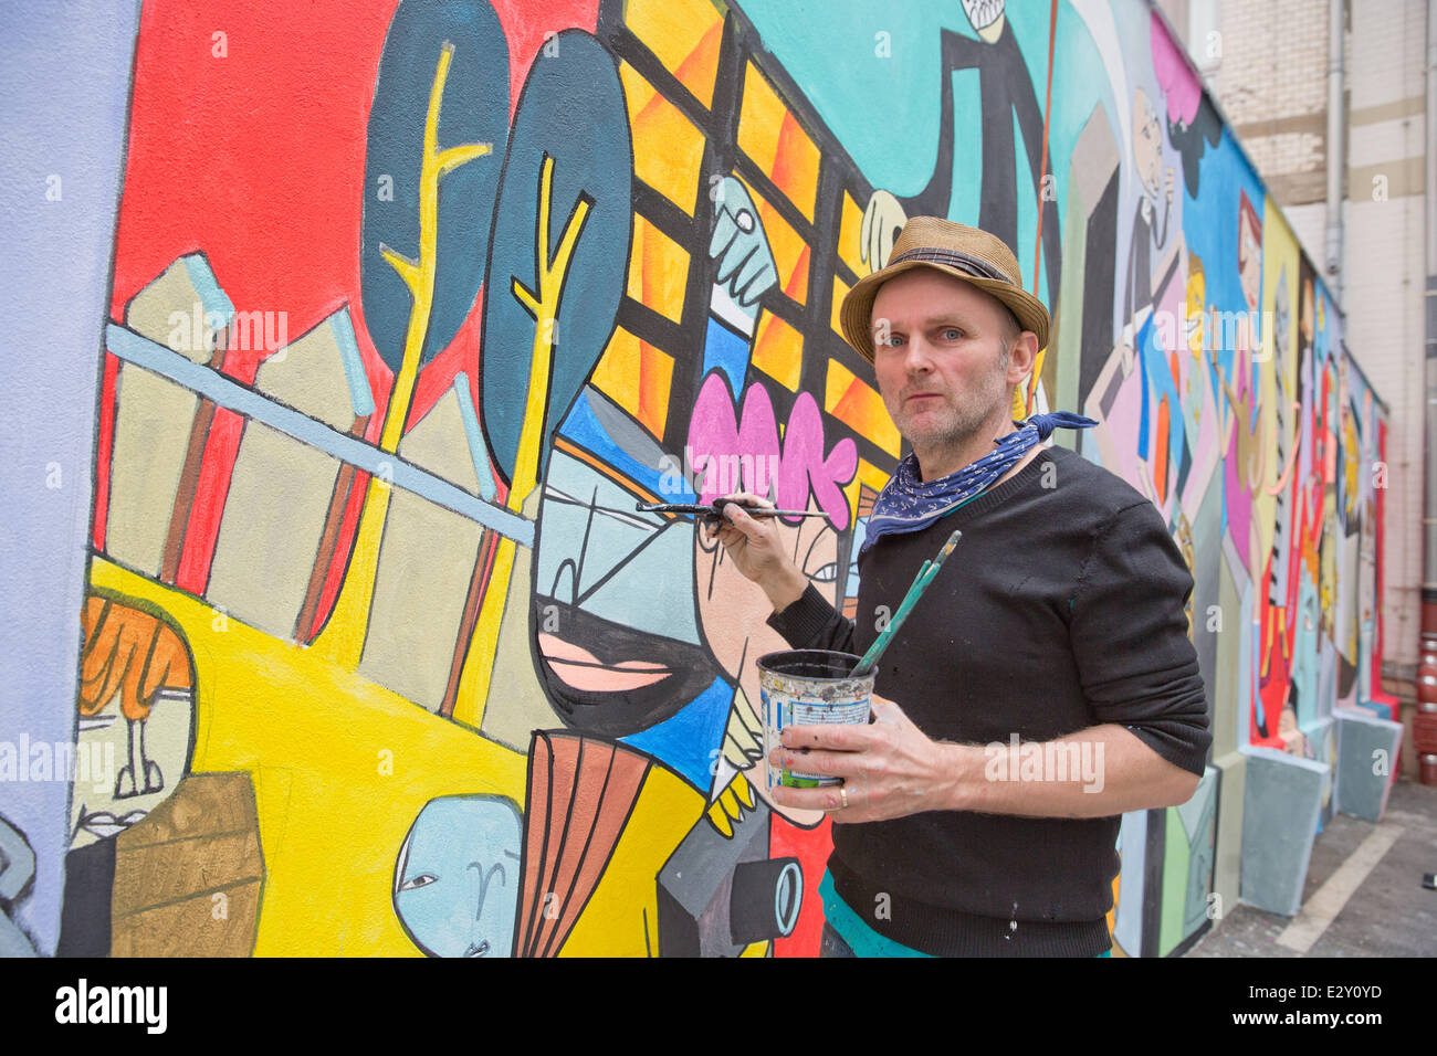
[[[1094,539],[1072,598],[1071,634],[1098,720],[1125,726],[1201,776],[1213,738],[1183,612],[1191,592],[1193,578],[1152,503],[1129,506]]]

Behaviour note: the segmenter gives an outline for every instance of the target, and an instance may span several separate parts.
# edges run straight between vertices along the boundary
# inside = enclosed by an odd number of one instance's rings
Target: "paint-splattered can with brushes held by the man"
[[[780,746],[790,726],[868,723],[875,672],[854,678],[861,657],[829,649],[789,649],[759,657],[759,694],[763,698],[763,769],[767,787],[822,789],[839,784],[838,777],[779,770],[769,766],[769,753]]]

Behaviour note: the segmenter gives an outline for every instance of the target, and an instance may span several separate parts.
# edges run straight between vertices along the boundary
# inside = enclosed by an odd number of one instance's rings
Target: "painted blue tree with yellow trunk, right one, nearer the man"
[[[632,168],[614,59],[582,30],[550,37],[529,68],[504,158],[479,371],[484,435],[514,513],[543,478],[553,431],[614,333]],[[489,697],[514,549],[512,539],[497,543],[464,662],[454,717],[473,726]]]

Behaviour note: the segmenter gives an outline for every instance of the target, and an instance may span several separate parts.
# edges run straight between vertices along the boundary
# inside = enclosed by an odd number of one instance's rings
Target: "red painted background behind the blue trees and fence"
[[[203,251],[237,310],[285,312],[290,336],[349,306],[379,432],[391,376],[364,323],[359,286],[365,138],[379,56],[395,0],[144,6],[131,93],[125,190],[115,236],[111,315],[177,257]],[[510,115],[547,33],[593,30],[598,0],[494,3],[509,39]],[[223,34],[223,36],[221,36]],[[480,300],[476,299],[476,309]],[[410,421],[433,407],[458,371],[477,407],[480,312],[421,376]],[[263,349],[233,351],[224,374],[251,382]],[[99,408],[93,542],[103,546],[114,450],[115,365]],[[208,578],[241,430],[220,414],[205,441],[178,585]],[[364,487],[346,513],[358,514]],[[346,516],[326,580],[328,615],[358,516]]]

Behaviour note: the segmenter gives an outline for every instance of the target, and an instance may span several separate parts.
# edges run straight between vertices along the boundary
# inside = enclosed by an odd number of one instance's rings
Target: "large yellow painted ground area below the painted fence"
[[[264,855],[254,954],[420,955],[391,901],[410,826],[435,796],[522,806],[525,756],[101,557],[91,583],[168,613],[184,634],[195,667],[193,769],[254,777]]]

